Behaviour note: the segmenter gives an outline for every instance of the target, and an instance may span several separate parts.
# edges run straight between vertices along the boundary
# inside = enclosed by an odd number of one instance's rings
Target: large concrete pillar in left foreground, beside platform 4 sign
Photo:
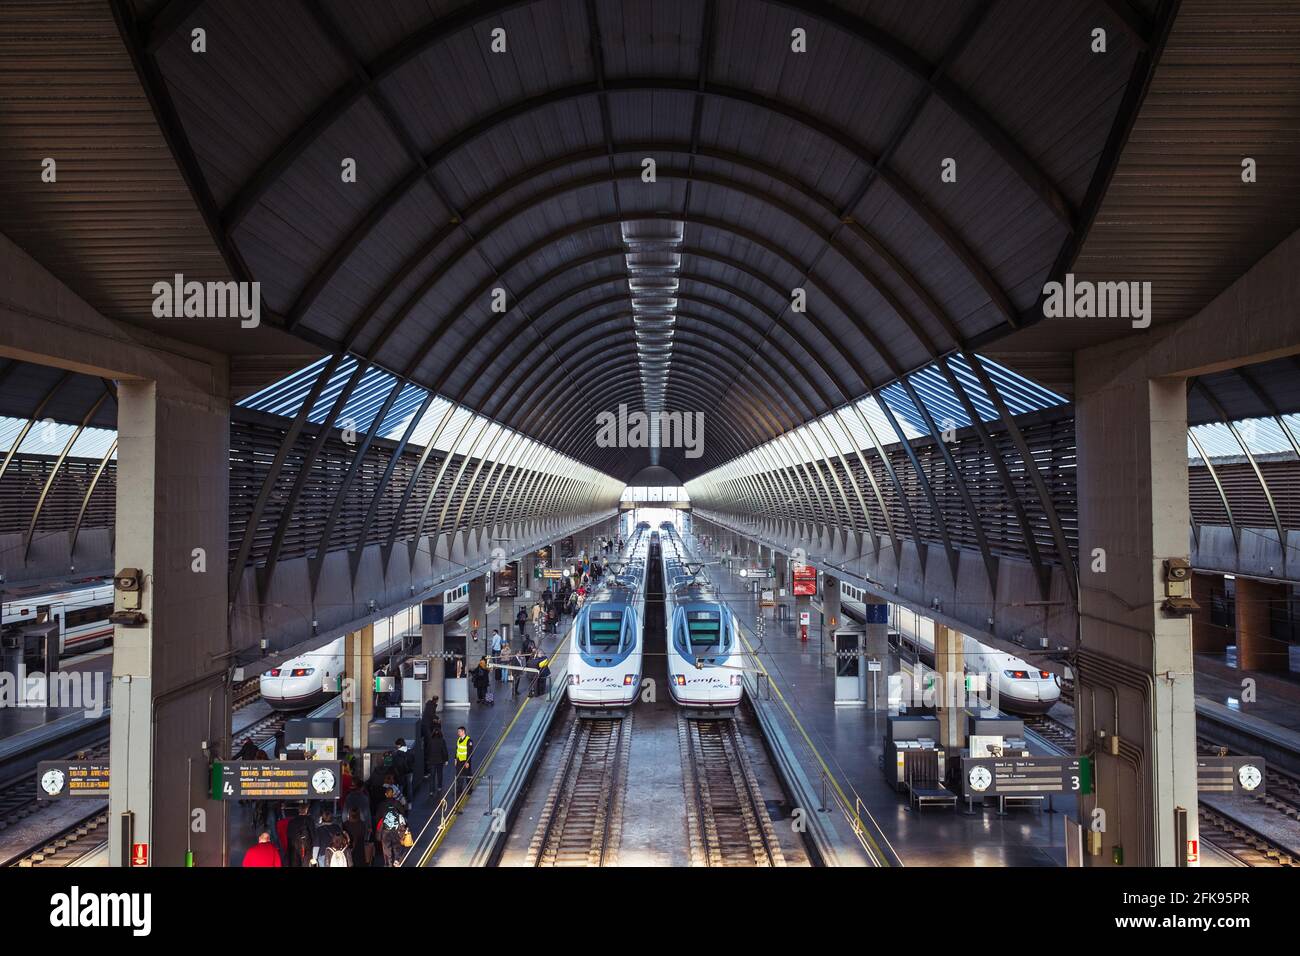
[[[230,406],[224,380],[212,390],[118,382],[114,557],[138,568],[139,591],[116,592],[114,606],[142,623],[113,633],[112,866],[131,855],[124,819],[151,865],[183,866],[187,842],[196,865],[225,862],[229,808],[209,799],[208,758],[225,757],[230,736]]]

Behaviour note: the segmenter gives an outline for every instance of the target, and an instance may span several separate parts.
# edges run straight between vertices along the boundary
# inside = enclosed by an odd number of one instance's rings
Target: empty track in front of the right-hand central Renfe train
[[[734,719],[677,715],[692,866],[784,866]]]

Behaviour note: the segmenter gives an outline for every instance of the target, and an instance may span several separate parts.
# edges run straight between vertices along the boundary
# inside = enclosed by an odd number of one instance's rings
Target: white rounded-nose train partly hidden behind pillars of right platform
[[[857,605],[858,614],[864,614],[861,588],[841,583],[840,592],[844,605]],[[898,639],[915,649],[924,663],[933,667],[935,622],[893,602],[889,604],[889,622]],[[1045,714],[1061,700],[1061,684],[1052,671],[982,644],[970,635],[962,635],[962,653],[968,672],[993,675],[997,705],[1008,713]]]

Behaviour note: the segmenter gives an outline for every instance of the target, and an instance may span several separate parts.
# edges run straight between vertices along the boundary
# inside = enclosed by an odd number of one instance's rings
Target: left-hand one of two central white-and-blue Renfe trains
[[[573,622],[568,698],[581,709],[630,706],[641,689],[646,571],[655,536],[646,522],[632,532],[618,575],[606,575]]]

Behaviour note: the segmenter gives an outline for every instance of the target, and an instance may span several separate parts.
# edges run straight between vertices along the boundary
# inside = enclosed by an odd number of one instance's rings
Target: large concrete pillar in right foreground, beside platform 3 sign
[[[1143,345],[1130,346],[1135,351]],[[1196,823],[1192,622],[1161,609],[1164,562],[1188,557],[1187,386],[1128,355],[1075,362],[1082,636],[1079,747],[1095,758],[1093,866],[1174,866],[1175,808]],[[1136,369],[1136,373],[1135,373]]]

